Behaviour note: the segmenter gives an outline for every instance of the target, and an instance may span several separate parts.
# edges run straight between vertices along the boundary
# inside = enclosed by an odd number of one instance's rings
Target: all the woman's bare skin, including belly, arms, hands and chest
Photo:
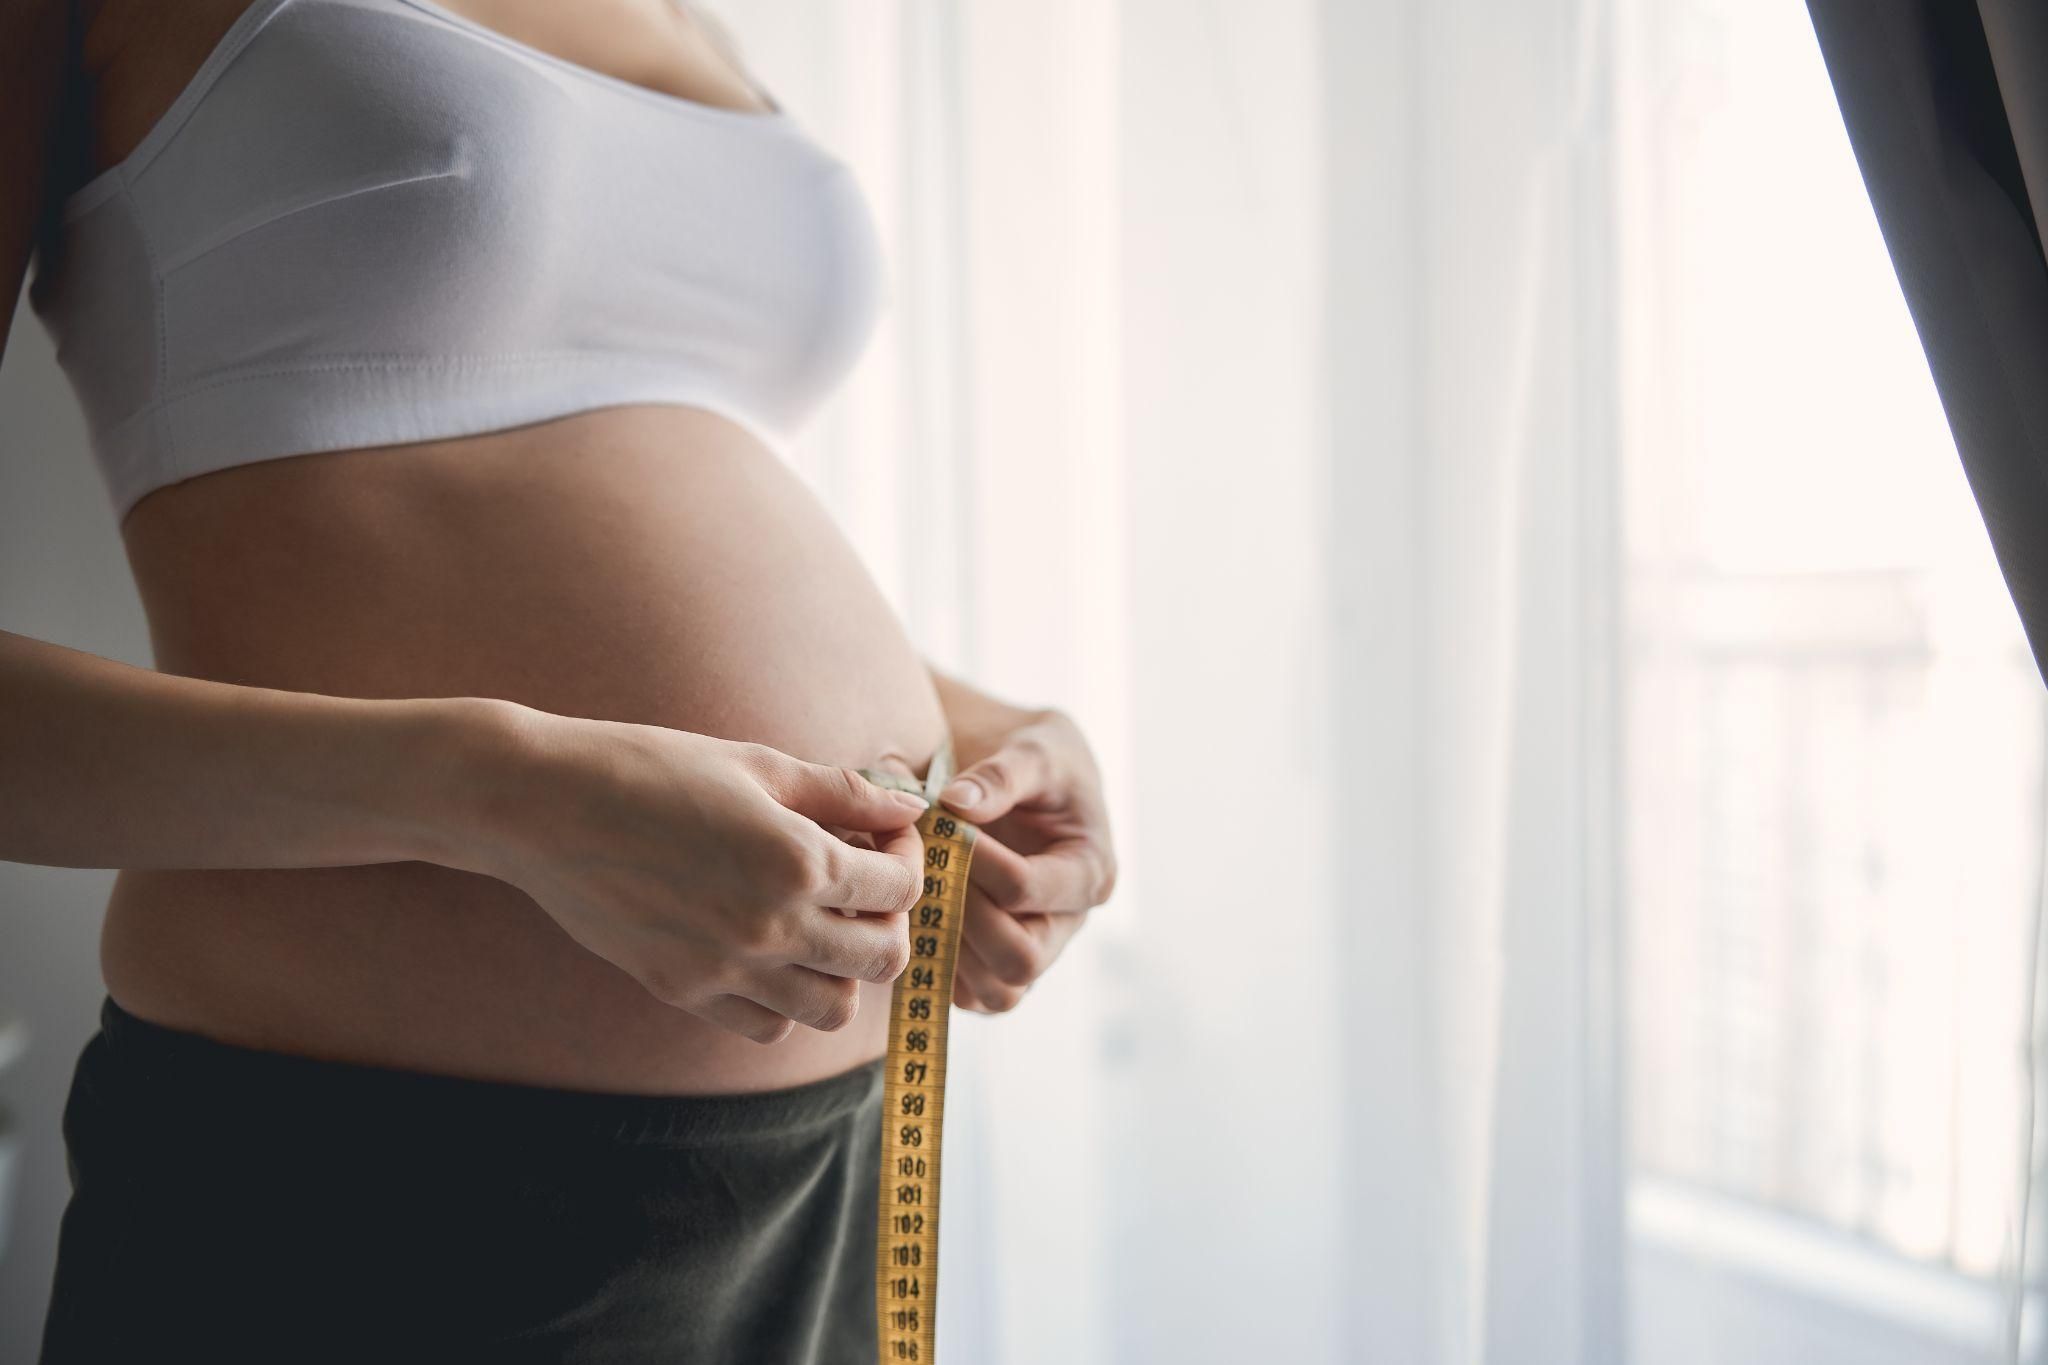
[[[63,6],[4,2],[0,45],[49,55]],[[242,8],[100,6],[86,174]],[[668,0],[444,8],[764,108]],[[0,108],[10,182],[49,178],[39,72]],[[6,299],[29,223],[0,223]],[[145,1019],[571,1089],[842,1072],[885,1046],[918,884],[918,806],[848,769],[922,772],[948,729],[1016,843],[977,862],[961,1003],[1016,1005],[1108,896],[1071,722],[932,673],[803,481],[715,415],[264,460],[121,530],[158,671],[0,636],[0,857],[127,868],[102,966]]]

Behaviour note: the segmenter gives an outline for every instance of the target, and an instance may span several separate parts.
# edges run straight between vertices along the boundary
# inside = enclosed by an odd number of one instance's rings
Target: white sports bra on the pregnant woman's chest
[[[852,172],[426,0],[254,0],[63,207],[33,307],[117,516],[201,473],[616,403],[776,452],[883,299]]]

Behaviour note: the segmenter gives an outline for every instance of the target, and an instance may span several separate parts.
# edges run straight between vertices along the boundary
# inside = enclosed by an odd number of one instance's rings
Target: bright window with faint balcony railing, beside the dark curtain
[[[2042,686],[1804,8],[1620,16],[1634,1228],[1989,1283]]]

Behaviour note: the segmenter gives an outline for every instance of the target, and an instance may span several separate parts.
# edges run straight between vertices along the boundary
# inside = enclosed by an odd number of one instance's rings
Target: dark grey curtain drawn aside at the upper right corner
[[[1808,0],[1806,10],[2048,677],[2048,2]]]

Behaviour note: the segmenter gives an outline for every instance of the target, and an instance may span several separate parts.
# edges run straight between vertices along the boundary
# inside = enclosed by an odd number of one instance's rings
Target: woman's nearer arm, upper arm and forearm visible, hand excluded
[[[0,0],[0,344],[59,162],[76,0]],[[0,428],[4,430],[4,428]],[[0,440],[0,458],[33,452]],[[0,860],[301,868],[442,853],[461,702],[166,677],[0,632]]]

